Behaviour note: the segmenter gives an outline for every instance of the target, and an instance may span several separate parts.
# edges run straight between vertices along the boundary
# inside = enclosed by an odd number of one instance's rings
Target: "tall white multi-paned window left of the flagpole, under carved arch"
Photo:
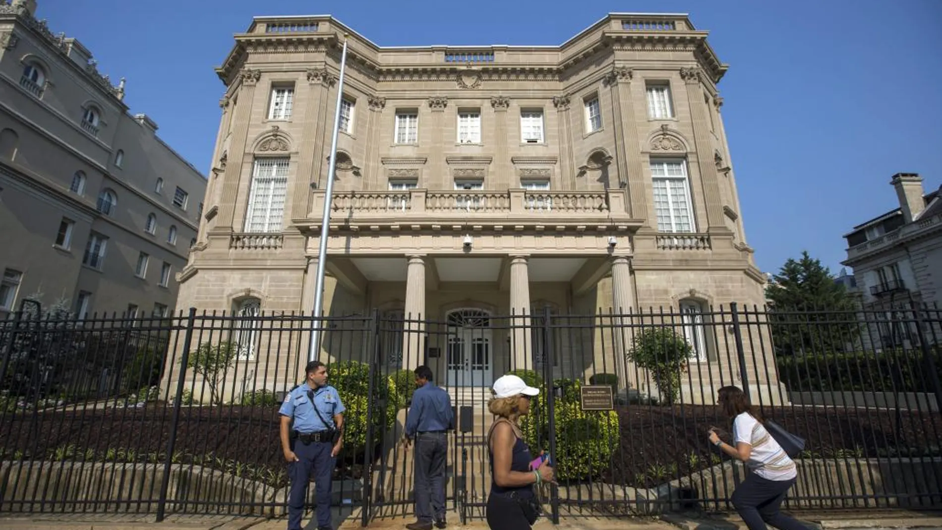
[[[252,171],[246,232],[281,232],[288,186],[287,158],[258,158]]]

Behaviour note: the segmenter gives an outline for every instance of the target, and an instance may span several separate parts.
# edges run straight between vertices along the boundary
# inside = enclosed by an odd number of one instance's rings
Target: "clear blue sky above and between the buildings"
[[[897,206],[893,173],[942,184],[940,0],[39,0],[38,15],[126,77],[131,111],[206,172],[224,90],[213,67],[252,16],[332,14],[384,46],[560,44],[611,11],[690,13],[730,65],[723,120],[763,271],[807,249],[836,273],[841,234]]]

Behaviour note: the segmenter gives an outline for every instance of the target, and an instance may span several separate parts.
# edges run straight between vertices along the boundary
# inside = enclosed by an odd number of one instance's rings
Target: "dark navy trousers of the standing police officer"
[[[293,442],[292,450],[297,462],[288,464],[291,493],[288,494],[288,530],[300,530],[300,518],[304,514],[304,494],[308,481],[314,476],[315,501],[317,502],[317,527],[331,526],[331,478],[336,458],[331,458],[333,446],[330,442]]]

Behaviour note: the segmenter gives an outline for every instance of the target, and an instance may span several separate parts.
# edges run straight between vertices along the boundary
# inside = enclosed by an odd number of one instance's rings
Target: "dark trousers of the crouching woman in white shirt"
[[[769,480],[750,473],[733,491],[730,501],[739,512],[739,517],[749,530],[766,530],[766,522],[780,530],[808,530],[801,522],[787,515],[782,515],[779,506],[785,500],[788,489],[795,484],[795,479]]]

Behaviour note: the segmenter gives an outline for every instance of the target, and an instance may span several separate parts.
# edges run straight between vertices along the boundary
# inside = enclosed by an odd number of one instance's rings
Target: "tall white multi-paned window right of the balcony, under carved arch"
[[[651,160],[654,181],[654,207],[658,215],[658,231],[696,232],[687,164],[683,160]]]

